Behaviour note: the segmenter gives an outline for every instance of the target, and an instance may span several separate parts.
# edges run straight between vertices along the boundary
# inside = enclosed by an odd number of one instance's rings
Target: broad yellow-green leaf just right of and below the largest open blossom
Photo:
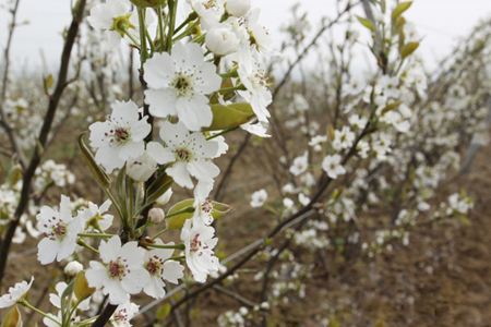
[[[212,105],[213,122],[205,131],[223,131],[240,126],[254,118],[249,104]]]

